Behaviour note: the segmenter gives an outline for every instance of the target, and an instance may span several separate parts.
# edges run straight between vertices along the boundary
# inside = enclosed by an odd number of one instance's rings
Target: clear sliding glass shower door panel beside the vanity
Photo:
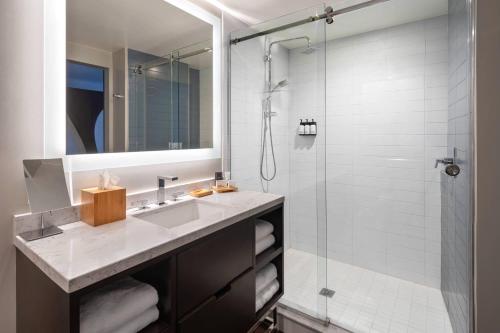
[[[323,320],[325,21],[274,29],[324,9],[317,6],[232,33],[229,63],[231,176],[240,189],[286,197],[281,303]],[[269,29],[274,32],[244,39]]]

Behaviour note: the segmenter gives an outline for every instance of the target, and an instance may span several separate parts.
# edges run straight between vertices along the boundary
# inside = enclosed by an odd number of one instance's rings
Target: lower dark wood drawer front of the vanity
[[[178,332],[245,333],[254,320],[255,271],[251,270],[179,322]]]

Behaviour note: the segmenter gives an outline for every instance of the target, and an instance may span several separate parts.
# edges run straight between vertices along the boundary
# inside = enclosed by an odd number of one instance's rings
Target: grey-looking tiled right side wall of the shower
[[[442,291],[454,332],[471,327],[472,218],[471,178],[473,113],[470,108],[471,66],[469,4],[451,0],[449,5],[449,116],[448,156],[457,148],[460,174],[443,177]],[[472,199],[473,200],[473,199]]]

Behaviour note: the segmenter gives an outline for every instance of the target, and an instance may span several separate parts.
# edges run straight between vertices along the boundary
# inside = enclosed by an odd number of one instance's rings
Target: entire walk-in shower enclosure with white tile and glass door
[[[285,196],[282,306],[353,332],[469,332],[470,3],[356,3],[231,34],[231,176]]]

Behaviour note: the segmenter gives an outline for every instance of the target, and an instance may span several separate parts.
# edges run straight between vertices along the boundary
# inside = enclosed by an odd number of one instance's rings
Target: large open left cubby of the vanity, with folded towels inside
[[[80,332],[93,331],[97,322],[111,331],[173,332],[174,264],[162,258],[79,291]]]

